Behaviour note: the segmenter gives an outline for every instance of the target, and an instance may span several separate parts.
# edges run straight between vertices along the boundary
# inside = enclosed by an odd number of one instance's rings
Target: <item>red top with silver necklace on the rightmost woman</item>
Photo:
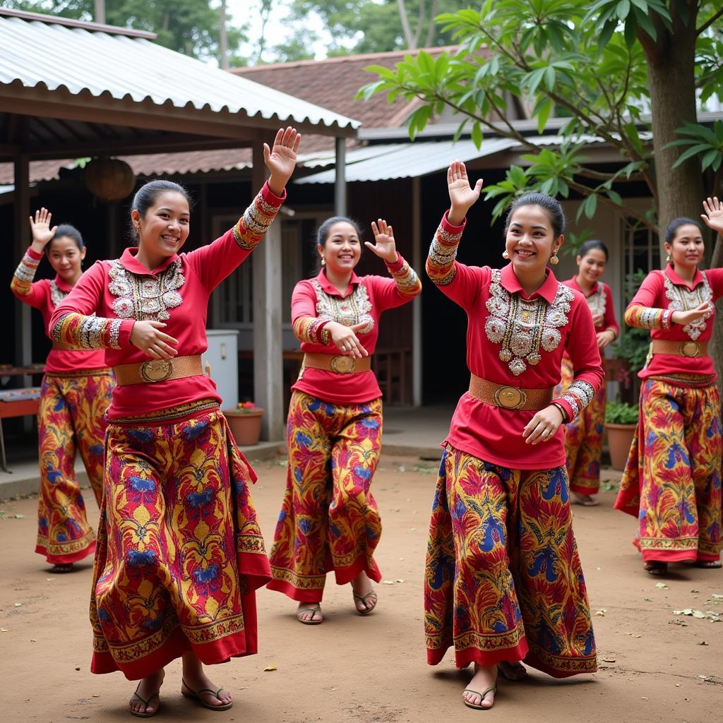
[[[650,329],[653,339],[670,341],[709,341],[713,334],[715,313],[706,320],[681,326],[670,322],[675,311],[688,311],[703,301],[715,303],[723,296],[723,268],[696,269],[693,283],[683,281],[672,264],[663,270],[651,271],[638,288],[638,293],[625,309],[625,323],[641,329]],[[713,360],[709,355],[690,357],[680,354],[654,354],[638,377],[701,375],[716,379]]]

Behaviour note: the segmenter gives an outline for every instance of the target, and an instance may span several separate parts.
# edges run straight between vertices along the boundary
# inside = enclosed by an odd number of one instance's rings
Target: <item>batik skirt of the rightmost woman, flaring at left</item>
[[[638,518],[643,560],[718,560],[721,406],[716,385],[643,382],[640,416],[615,507]]]

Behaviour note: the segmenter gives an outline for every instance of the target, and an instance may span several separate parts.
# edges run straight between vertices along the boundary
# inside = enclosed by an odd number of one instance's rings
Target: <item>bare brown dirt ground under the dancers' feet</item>
[[[281,503],[283,461],[254,465],[254,499],[268,544]],[[179,722],[432,723],[496,718],[586,723],[714,723],[723,709],[723,571],[676,568],[666,587],[641,569],[630,544],[635,521],[612,510],[615,474],[599,508],[574,508],[575,531],[591,597],[599,672],[556,681],[531,671],[523,683],[500,681],[491,711],[463,706],[471,668],[447,655],[426,664],[422,565],[436,466],[382,458],[374,492],[384,533],[377,550],[383,583],[369,617],[356,615],[351,590],[328,583],[325,623],[303,626],[294,602],[258,594],[260,654],[210,669],[234,695],[230,711],[207,711],[182,698],[180,666],[166,669],[159,720]],[[98,519],[93,496],[90,515]],[[6,721],[129,721],[134,685],[120,673],[91,675],[87,600],[90,560],[52,575],[35,555],[35,505],[0,503],[0,685]],[[265,672],[266,667],[275,667]]]

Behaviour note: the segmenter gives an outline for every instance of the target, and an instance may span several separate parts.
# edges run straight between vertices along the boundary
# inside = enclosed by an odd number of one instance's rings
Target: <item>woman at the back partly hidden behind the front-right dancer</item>
[[[607,246],[602,241],[585,241],[576,258],[578,273],[565,286],[580,291],[592,312],[597,346],[602,350],[617,339],[620,328],[615,320],[612,293],[599,281],[607,264]],[[562,382],[555,390],[561,394],[573,383],[575,371],[570,355],[562,354]],[[605,382],[591,403],[576,419],[565,424],[565,455],[567,455],[570,502],[586,507],[599,505],[593,495],[600,488],[600,457],[602,456],[602,425],[605,421]]]

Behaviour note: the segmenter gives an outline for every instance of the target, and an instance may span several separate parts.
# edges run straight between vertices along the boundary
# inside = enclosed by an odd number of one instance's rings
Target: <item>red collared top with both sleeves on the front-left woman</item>
[[[98,261],[82,276],[72,294],[55,310],[51,337],[74,346],[105,348],[111,367],[149,357],[132,345],[136,320],[158,320],[178,340],[177,356],[202,354],[208,348],[208,297],[256,247],[281,206],[264,185],[234,228],[220,239],[187,254],[174,254],[148,270],[126,249],[119,259]],[[97,316],[90,316],[91,314]],[[159,411],[203,398],[220,401],[206,375],[132,385],[116,385],[109,419]]]

